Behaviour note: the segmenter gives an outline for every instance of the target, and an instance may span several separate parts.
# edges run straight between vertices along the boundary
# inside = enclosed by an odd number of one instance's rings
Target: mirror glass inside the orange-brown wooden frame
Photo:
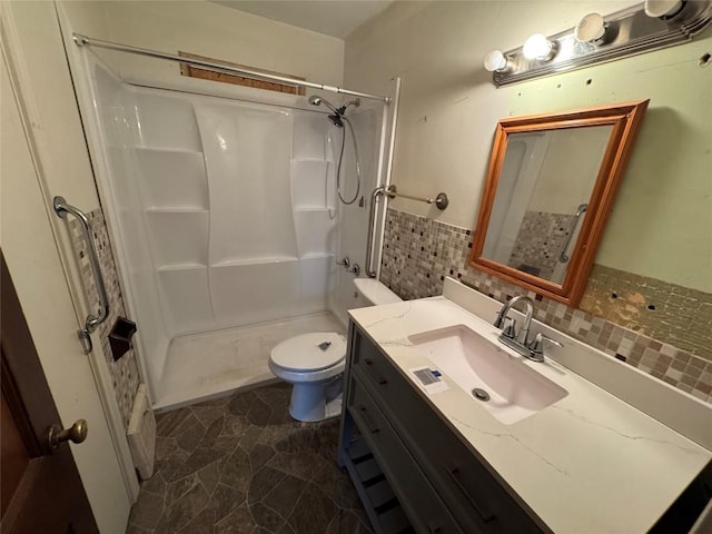
[[[483,257],[561,285],[612,130],[512,134]]]

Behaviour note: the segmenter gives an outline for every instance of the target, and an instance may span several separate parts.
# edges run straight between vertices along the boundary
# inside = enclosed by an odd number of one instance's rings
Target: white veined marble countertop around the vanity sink
[[[408,336],[465,325],[498,343],[494,326],[445,297],[349,315],[554,532],[647,532],[712,458],[706,448],[551,358],[522,359],[568,395],[514,424],[500,423],[446,375],[447,390],[426,394],[408,369],[436,366]]]

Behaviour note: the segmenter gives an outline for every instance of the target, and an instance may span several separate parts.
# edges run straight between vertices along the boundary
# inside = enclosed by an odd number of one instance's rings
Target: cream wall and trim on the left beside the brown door
[[[3,3],[0,13],[0,243],[58,423],[88,422],[87,441],[71,451],[97,524],[119,534],[131,502],[89,363],[93,355],[82,354],[77,338],[83,313],[71,287],[79,286],[61,245],[65,224],[51,209],[55,195],[82,208],[98,205],[71,81],[52,3]]]

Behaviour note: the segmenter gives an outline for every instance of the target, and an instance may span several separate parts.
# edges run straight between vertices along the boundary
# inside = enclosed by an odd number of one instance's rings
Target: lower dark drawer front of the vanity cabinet
[[[449,515],[447,507],[417,468],[413,457],[358,378],[352,376],[348,392],[348,412],[362,431],[362,435],[373,451],[416,532],[428,534],[462,533],[463,531]]]

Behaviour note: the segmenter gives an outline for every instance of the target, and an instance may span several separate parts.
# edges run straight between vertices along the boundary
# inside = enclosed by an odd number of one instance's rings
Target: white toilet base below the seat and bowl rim
[[[342,414],[342,375],[328,383],[294,384],[289,415],[304,423],[316,423]]]

